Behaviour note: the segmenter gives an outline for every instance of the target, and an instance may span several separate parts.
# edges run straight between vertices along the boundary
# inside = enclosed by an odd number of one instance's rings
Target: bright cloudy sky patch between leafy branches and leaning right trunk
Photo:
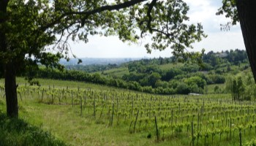
[[[221,0],[184,0],[190,7],[189,18],[192,23],[202,23],[203,30],[208,37],[195,43],[195,50],[206,48],[206,51],[244,49],[244,42],[240,25],[232,26],[230,31],[221,31],[220,24],[225,24],[230,19],[224,15],[216,15]]]

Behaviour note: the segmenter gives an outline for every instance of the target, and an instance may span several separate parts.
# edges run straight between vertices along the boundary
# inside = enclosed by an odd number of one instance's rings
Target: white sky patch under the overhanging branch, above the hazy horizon
[[[121,42],[118,37],[95,36],[89,38],[87,44],[83,42],[70,43],[72,44],[72,52],[80,58],[158,58],[159,56],[171,56],[171,50],[152,50],[152,53],[148,54],[143,45],[128,45],[128,43]]]

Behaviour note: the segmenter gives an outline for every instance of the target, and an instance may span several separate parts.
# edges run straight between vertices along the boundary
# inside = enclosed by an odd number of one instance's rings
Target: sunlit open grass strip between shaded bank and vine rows
[[[4,110],[4,101],[0,101],[1,110]],[[122,125],[109,127],[102,121],[94,121],[87,116],[80,117],[78,106],[72,108],[67,105],[39,104],[34,100],[19,101],[19,104],[20,119],[49,131],[67,145],[155,144],[154,139],[146,138],[147,133],[129,134],[129,129]]]

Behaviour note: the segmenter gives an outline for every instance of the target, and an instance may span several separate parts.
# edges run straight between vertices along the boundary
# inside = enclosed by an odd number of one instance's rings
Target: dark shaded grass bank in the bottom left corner
[[[48,132],[31,126],[23,120],[7,118],[0,111],[0,145],[66,145]]]

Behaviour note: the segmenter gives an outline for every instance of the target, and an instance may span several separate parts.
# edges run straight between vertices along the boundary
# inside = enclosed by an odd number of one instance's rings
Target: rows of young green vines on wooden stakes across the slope
[[[4,85],[0,84],[4,100]],[[256,102],[227,95],[158,96],[115,89],[18,86],[19,101],[69,106],[77,115],[127,134],[145,133],[156,144],[185,137],[181,145],[255,145]]]

